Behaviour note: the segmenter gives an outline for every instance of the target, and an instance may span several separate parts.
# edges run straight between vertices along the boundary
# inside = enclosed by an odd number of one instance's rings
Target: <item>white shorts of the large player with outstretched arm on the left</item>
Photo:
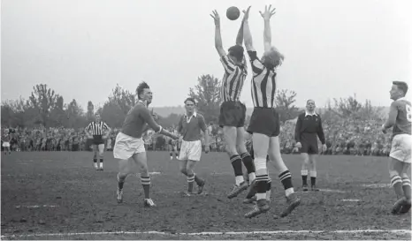
[[[127,160],[134,154],[144,153],[144,141],[141,138],[134,138],[122,132],[118,132],[116,142],[114,143],[114,158]]]

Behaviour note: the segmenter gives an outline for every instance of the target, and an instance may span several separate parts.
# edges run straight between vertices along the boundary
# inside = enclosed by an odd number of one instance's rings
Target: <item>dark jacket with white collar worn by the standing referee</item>
[[[319,137],[322,145],[325,144],[324,128],[322,128],[322,120],[317,113],[309,114],[307,111],[299,115],[294,129],[294,140],[301,142],[303,140],[317,141]]]

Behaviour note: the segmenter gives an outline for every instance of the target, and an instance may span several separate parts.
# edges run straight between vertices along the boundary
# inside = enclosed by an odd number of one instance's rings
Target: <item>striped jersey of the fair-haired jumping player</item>
[[[276,92],[276,72],[268,69],[257,58],[256,51],[248,51],[252,64],[252,101],[255,107],[273,108]]]

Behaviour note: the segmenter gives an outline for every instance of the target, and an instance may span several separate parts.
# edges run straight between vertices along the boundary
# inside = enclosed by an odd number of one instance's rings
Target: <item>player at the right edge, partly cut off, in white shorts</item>
[[[391,184],[398,200],[392,208],[393,215],[408,213],[411,207],[410,179],[410,149],[412,145],[410,122],[412,112],[410,101],[405,98],[408,92],[408,84],[401,81],[393,81],[391,99],[393,100],[389,110],[389,117],[382,125],[382,132],[393,127],[392,148],[389,154],[389,175]]]

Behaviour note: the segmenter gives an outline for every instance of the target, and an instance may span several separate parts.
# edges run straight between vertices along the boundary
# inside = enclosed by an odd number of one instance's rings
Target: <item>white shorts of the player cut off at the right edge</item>
[[[398,134],[393,137],[390,157],[400,162],[410,163],[412,137],[408,134]]]

